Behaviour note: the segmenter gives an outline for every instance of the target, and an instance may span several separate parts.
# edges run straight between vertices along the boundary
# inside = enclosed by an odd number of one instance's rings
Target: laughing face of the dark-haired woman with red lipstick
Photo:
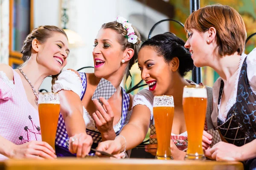
[[[159,56],[155,47],[144,46],[138,54],[141,78],[148,84],[154,96],[167,94],[172,87],[173,72],[171,65]]]

